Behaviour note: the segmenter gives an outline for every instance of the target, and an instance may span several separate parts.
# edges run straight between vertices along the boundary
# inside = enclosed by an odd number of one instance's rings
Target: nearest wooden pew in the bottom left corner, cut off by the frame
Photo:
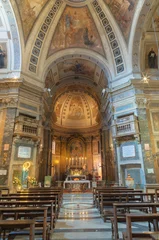
[[[29,227],[29,240],[35,239],[35,220],[0,220],[0,235],[6,239],[6,230],[11,231],[15,228],[24,229]]]

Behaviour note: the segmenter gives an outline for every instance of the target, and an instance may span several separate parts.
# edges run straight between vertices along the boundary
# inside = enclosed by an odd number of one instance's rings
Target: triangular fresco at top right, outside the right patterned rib
[[[104,0],[119,24],[125,38],[129,37],[138,1],[139,0]]]

